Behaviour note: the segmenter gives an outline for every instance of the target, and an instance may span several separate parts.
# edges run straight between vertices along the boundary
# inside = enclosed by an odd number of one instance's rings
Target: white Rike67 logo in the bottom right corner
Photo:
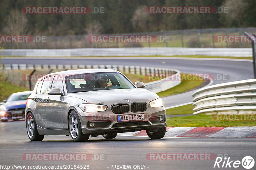
[[[216,157],[214,168],[238,168],[243,166],[245,169],[251,169],[254,166],[254,159],[251,156],[245,156],[242,161],[231,160],[230,156],[227,158]]]

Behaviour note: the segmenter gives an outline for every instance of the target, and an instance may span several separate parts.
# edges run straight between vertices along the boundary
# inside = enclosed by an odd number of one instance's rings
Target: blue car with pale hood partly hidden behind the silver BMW
[[[26,101],[31,93],[32,91],[13,93],[8,100],[4,100],[4,104],[0,105],[0,120],[5,122],[25,118]]]

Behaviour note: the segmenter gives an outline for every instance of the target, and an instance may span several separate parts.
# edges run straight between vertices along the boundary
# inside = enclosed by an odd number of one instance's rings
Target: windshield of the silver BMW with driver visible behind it
[[[131,89],[134,85],[120,73],[75,74],[65,77],[68,93]]]

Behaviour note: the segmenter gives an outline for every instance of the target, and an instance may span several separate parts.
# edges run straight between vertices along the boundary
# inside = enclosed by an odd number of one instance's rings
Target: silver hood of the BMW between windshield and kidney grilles
[[[88,103],[100,104],[131,99],[157,99],[156,93],[147,89],[108,89],[99,91],[87,91],[79,93],[69,93],[68,96],[77,97]]]

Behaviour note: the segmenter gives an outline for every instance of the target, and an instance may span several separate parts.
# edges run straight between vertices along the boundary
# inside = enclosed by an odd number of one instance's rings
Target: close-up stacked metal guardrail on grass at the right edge
[[[193,114],[255,114],[256,79],[208,86],[193,97]]]

